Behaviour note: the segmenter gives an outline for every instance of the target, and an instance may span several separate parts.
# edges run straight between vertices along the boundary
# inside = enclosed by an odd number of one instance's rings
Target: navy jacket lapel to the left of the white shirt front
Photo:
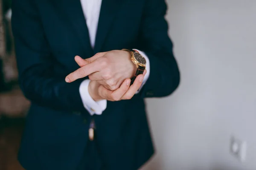
[[[56,2],[60,1],[56,0]],[[79,43],[81,44],[81,48],[85,49],[89,56],[92,56],[93,49],[90,45],[89,31],[80,0],[62,0],[62,2],[63,3],[60,3],[62,5],[62,10],[64,11],[64,14],[67,14],[66,17],[68,18],[71,27],[74,28],[73,30],[76,32],[77,37],[81,42]]]

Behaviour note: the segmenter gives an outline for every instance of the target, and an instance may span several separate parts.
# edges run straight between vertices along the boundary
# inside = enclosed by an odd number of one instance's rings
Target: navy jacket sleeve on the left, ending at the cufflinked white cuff
[[[26,98],[56,110],[84,111],[79,94],[83,79],[66,83],[64,75],[56,74],[61,66],[51,57],[34,1],[13,0],[12,31],[20,88]]]

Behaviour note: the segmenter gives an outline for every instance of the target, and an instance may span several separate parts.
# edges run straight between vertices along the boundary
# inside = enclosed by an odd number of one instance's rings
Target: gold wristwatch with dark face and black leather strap
[[[131,78],[131,84],[133,84],[136,77],[140,74],[143,74],[146,69],[146,59],[138,52],[133,49],[122,49],[124,51],[129,51],[131,53],[131,61],[137,66],[137,71],[135,76]]]

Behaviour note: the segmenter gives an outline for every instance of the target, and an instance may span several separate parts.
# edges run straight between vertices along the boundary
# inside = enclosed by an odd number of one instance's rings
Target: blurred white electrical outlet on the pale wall
[[[245,161],[246,159],[247,144],[245,141],[241,141],[234,136],[230,140],[230,153],[235,156],[239,161]]]

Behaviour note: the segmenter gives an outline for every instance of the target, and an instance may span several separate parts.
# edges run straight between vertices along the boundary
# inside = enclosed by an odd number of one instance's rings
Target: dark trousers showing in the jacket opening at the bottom
[[[77,170],[105,170],[99,156],[96,139],[94,141],[88,141],[87,147],[84,150],[84,156]]]

